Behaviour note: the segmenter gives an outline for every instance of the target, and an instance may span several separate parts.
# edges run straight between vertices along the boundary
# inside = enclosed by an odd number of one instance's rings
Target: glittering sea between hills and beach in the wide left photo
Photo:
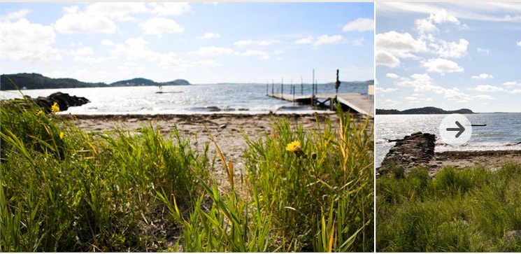
[[[267,89],[266,89],[267,88]],[[267,90],[267,91],[266,91]],[[292,85],[273,85],[273,92],[290,94]],[[71,96],[85,97],[91,102],[71,107],[64,113],[73,114],[192,114],[192,113],[308,113],[309,106],[273,99],[269,84],[213,84],[158,87],[100,87],[23,90],[31,97],[48,96],[64,92]],[[311,85],[294,85],[295,94],[311,94]],[[334,93],[334,85],[317,85],[318,93]],[[342,83],[338,92],[367,94],[364,83]],[[1,91],[0,99],[21,97],[17,91]]]

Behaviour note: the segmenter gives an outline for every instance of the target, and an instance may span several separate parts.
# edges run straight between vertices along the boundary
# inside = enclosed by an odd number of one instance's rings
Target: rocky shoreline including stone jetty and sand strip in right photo
[[[376,176],[387,174],[393,167],[401,167],[407,174],[415,167],[429,169],[434,176],[443,167],[487,167],[495,170],[508,162],[521,163],[521,146],[512,150],[445,151],[435,153],[436,135],[415,132],[396,142],[381,164],[376,168]]]

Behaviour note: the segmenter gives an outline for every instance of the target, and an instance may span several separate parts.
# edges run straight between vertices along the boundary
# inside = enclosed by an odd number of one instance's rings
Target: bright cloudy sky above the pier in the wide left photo
[[[0,3],[1,73],[113,83],[370,80],[373,3]]]

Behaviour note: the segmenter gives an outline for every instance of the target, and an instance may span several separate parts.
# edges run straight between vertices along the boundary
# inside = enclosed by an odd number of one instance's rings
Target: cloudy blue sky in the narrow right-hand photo
[[[376,108],[521,112],[521,3],[376,3]]]

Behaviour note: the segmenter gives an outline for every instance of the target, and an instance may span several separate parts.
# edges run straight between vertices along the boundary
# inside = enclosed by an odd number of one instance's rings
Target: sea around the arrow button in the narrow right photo
[[[447,150],[521,150],[521,113],[478,113],[465,115],[472,127],[471,139],[462,146],[450,146],[439,138],[439,125],[446,115],[376,115],[376,167],[394,146],[389,139],[402,139],[413,132],[436,134],[435,152]]]

